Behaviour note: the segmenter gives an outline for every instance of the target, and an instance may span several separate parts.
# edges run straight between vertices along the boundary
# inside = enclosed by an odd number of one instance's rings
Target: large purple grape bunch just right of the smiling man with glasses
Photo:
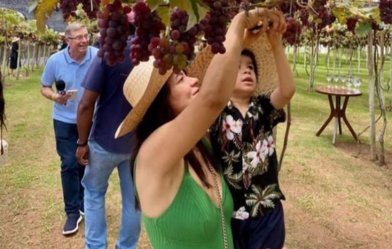
[[[120,0],[113,4],[105,5],[98,14],[98,27],[100,28],[98,56],[105,58],[107,65],[114,66],[122,63],[125,59],[124,49],[127,46],[128,18],[127,13],[131,9],[124,7]]]

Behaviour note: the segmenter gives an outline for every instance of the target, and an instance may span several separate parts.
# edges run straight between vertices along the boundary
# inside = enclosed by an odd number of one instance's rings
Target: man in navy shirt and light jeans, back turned
[[[86,165],[82,184],[85,187],[87,249],[107,247],[105,194],[110,174],[116,167],[123,204],[116,248],[136,248],[140,232],[140,212],[134,207],[129,165],[134,135],[130,133],[115,139],[117,128],[131,110],[123,94],[124,82],[132,69],[129,45],[128,41],[124,51],[125,61],[113,67],[107,66],[104,59],[96,57],[82,82],[85,92],[78,107],[77,128],[83,146],[78,147],[76,157],[80,164]]]

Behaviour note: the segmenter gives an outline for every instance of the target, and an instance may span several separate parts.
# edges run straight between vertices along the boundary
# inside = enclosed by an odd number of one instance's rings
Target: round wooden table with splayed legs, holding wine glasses
[[[342,134],[341,118],[343,118],[343,121],[346,123],[347,128],[349,129],[352,136],[354,137],[355,142],[358,142],[358,137],[357,137],[356,133],[354,132],[354,130],[352,129],[349,121],[347,120],[346,108],[347,108],[349,98],[355,97],[355,96],[360,96],[360,95],[362,95],[362,92],[360,92],[359,90],[342,88],[342,87],[335,87],[335,86],[330,86],[330,87],[319,86],[316,88],[316,91],[319,92],[320,94],[325,94],[328,96],[329,107],[331,110],[329,117],[324,122],[324,124],[320,128],[320,130],[316,133],[316,136],[320,136],[320,134],[324,131],[325,127],[327,127],[329,122],[334,117],[335,124],[334,124],[334,128],[333,128],[332,143],[335,144],[336,135],[338,132],[338,126],[339,126],[339,134]],[[333,105],[332,96],[335,96],[335,98],[336,98],[335,105]],[[345,97],[343,107],[341,107],[341,98],[342,97]]]

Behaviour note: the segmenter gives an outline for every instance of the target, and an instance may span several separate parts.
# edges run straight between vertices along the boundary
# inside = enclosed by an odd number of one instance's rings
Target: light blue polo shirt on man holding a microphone
[[[77,98],[75,100],[68,100],[66,105],[54,102],[53,119],[66,123],[76,123],[77,106],[84,91],[80,83],[97,52],[97,48],[89,46],[85,58],[81,63],[78,63],[71,58],[67,47],[54,53],[47,60],[41,77],[43,86],[51,87],[55,81],[64,80],[65,90],[77,89]],[[53,89],[55,90],[55,87]]]

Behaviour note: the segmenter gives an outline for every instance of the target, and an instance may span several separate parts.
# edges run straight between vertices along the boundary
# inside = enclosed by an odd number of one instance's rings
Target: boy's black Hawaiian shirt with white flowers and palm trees
[[[279,189],[272,129],[286,120],[286,113],[274,109],[270,95],[253,97],[245,117],[229,102],[210,128],[211,144],[233,195],[236,219],[267,215],[285,199]]]

